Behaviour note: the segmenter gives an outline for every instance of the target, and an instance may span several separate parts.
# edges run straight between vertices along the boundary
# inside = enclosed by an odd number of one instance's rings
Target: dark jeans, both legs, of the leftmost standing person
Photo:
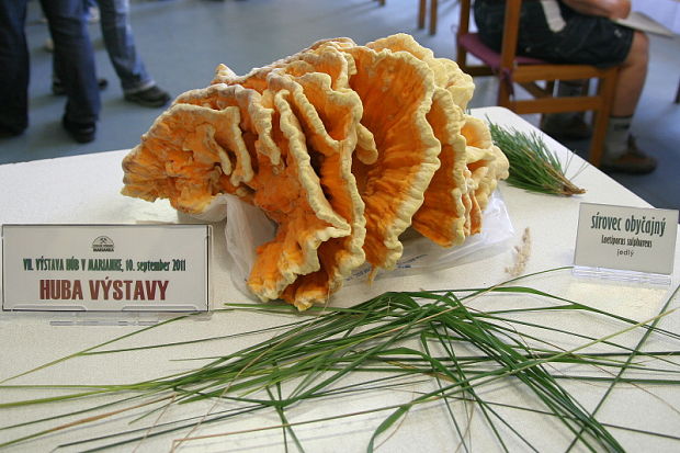
[[[0,0],[0,126],[21,133],[29,126],[27,0]],[[93,123],[101,109],[94,55],[81,0],[41,0],[55,43],[57,71],[66,91],[66,117]]]

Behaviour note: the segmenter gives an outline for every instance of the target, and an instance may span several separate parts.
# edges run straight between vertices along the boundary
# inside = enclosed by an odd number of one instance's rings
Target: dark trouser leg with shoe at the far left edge
[[[29,126],[29,47],[26,0],[0,0],[0,135],[20,135]]]

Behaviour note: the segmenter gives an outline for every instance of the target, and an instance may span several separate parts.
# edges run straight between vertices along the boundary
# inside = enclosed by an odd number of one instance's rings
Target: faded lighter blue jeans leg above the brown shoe
[[[104,45],[125,93],[155,84],[135,48],[129,24],[129,0],[97,0]]]

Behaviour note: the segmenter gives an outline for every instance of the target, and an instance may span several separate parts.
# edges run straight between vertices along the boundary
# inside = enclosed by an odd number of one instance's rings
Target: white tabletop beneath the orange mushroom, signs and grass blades
[[[473,114],[522,131],[535,131],[533,126],[513,113],[500,109],[489,107],[473,111]],[[567,157],[570,152],[552,140],[545,138],[553,149]],[[56,223],[56,224],[98,224],[98,223],[177,223],[178,215],[166,202],[147,203],[140,200],[128,199],[118,194],[122,181],[121,160],[126,150],[76,156],[26,163],[0,166],[0,224],[11,223]],[[571,168],[577,169],[583,163],[582,159],[574,156]],[[576,183],[586,188],[588,192],[576,197],[555,197],[528,193],[500,184],[500,192],[508,206],[510,217],[515,228],[517,242],[524,228],[530,228],[532,235],[532,252],[526,272],[542,271],[551,268],[571,264],[574,244],[580,202],[609,203],[631,206],[648,206],[643,200],[601,173],[587,166],[575,179]],[[220,245],[220,228],[216,228],[216,250],[213,258],[214,306],[224,302],[250,302],[236,291],[229,280],[229,262]],[[505,269],[512,263],[513,254],[507,250],[500,254],[481,260],[461,264],[454,269],[433,272],[428,275],[415,275],[404,279],[383,279],[373,285],[356,285],[342,290],[335,296],[336,305],[352,305],[385,291],[413,288],[447,288],[447,287],[478,287],[501,282],[508,279]],[[677,284],[680,272],[680,252],[676,254],[676,272],[672,275],[673,285]],[[612,312],[637,320],[649,319],[658,314],[669,295],[669,287],[644,287],[639,285],[623,285],[605,281],[579,280],[568,271],[556,274],[533,278],[525,282],[528,285],[544,288],[555,294],[588,303],[598,308]],[[671,285],[672,286],[672,285]],[[505,302],[512,305],[512,298]],[[678,306],[675,301],[673,306]],[[481,302],[480,304],[484,304]],[[484,308],[484,305],[479,306]],[[54,326],[48,316],[20,314],[2,316],[0,318],[0,380],[31,370],[43,363],[60,356],[80,351],[90,346],[106,341],[117,336],[139,329],[135,326]],[[143,336],[125,341],[125,346],[150,344],[182,339],[205,338],[229,332],[247,331],[282,322],[277,316],[263,316],[243,313],[216,313],[207,320],[188,321],[178,327],[161,327]],[[588,324],[583,318],[583,324]],[[680,332],[680,314],[675,313],[661,321],[661,327]],[[589,327],[598,331],[598,321]],[[634,346],[642,332],[635,332],[622,342]],[[205,356],[224,354],[235,351],[253,340],[239,338],[229,341],[199,343],[172,350],[156,350],[135,353],[134,355],[97,355],[78,359],[72,362],[58,364],[39,372],[30,374],[8,384],[39,384],[39,383],[128,383],[145,378],[152,378],[181,370],[181,362],[170,362],[171,358]],[[670,340],[654,340],[653,347],[659,349],[680,350],[680,342]],[[159,352],[160,351],[160,352]],[[587,407],[599,401],[607,384],[571,385],[563,383]],[[510,392],[514,398],[522,399],[506,387],[488,390],[488,397],[495,397],[496,392]],[[8,390],[0,389],[0,403],[26,399],[56,394],[56,390]],[[367,407],[376,407],[375,400],[382,405],[393,401],[404,401],[401,392],[379,393],[373,397],[350,396],[343,399],[310,403],[292,410],[288,417],[293,421],[309,420],[313,418],[337,415],[339,410],[351,412]],[[409,396],[406,396],[408,400]],[[87,406],[86,403],[24,407],[11,410],[0,410],[0,424],[36,419],[52,414],[61,414],[75,408]],[[680,390],[668,387],[649,387],[645,389],[621,387],[610,395],[599,412],[601,420],[624,426],[634,426],[639,429],[654,430],[664,433],[678,434],[680,415],[671,406],[680,408]],[[171,409],[163,414],[161,421],[178,412],[204,415],[212,409],[212,405],[204,404],[195,407]],[[307,451],[332,452],[365,451],[365,446],[375,428],[388,412],[378,412],[361,417],[350,417],[340,421],[302,426],[296,429]],[[83,415],[82,417],[87,416]],[[158,417],[158,415],[154,415]],[[565,435],[562,428],[544,418],[522,412],[512,414],[513,420],[523,421],[533,444],[542,452],[565,451],[571,441]],[[89,428],[67,430],[30,443],[20,444],[10,451],[49,451],[60,443],[111,433],[127,428],[129,418],[118,421],[95,422]],[[236,431],[279,423],[273,412],[245,416],[230,421],[228,426],[202,427],[193,434]],[[46,428],[58,423],[39,426]],[[0,442],[14,439],[21,434],[34,432],[34,427],[26,427],[13,431],[0,431]],[[411,410],[405,421],[392,435],[384,435],[384,442],[378,451],[385,452],[440,452],[455,451],[458,440],[454,435],[451,421],[446,418],[444,408],[440,404],[423,405]],[[169,434],[146,440],[138,445],[126,445],[122,451],[169,451],[171,440],[186,433]],[[680,449],[680,443],[658,437],[635,434],[613,430],[620,442],[628,451],[671,451]],[[469,437],[473,451],[498,451],[499,445],[490,437],[488,427],[481,415],[476,411]],[[469,439],[468,439],[469,441]],[[180,450],[191,451],[283,451],[280,430],[263,431],[260,433],[239,434],[228,438],[214,438],[203,441],[186,442]],[[295,449],[291,444],[292,449]],[[525,445],[514,441],[509,442],[512,451],[524,451]],[[82,446],[80,446],[80,450]],[[78,450],[78,449],[76,449]],[[581,451],[577,448],[574,451]],[[68,449],[64,450],[68,451]],[[464,451],[464,450],[461,450]]]

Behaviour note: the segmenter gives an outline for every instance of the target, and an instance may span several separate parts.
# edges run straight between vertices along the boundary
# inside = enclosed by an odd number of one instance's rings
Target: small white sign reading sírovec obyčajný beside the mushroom
[[[574,263],[671,274],[678,211],[581,203]]]

